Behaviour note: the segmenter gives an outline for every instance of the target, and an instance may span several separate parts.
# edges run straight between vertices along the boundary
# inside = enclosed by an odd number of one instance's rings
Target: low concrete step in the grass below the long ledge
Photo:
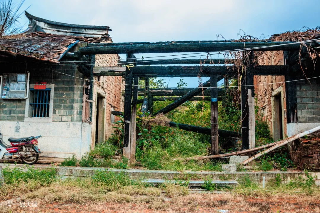
[[[189,186],[202,186],[204,184],[204,180],[190,180],[190,181],[179,181],[179,180],[165,180],[165,179],[144,179],[142,182],[150,183],[150,184],[163,184],[163,183],[186,183],[188,182]],[[236,180],[212,180],[212,184],[216,186],[236,186],[238,182]]]

